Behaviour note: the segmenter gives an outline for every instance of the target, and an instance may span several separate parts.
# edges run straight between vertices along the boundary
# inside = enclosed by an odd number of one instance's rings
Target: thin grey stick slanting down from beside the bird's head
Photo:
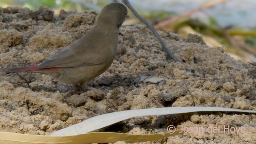
[[[151,26],[142,16],[140,16],[140,14],[138,14],[138,12],[136,12],[136,10],[132,7],[132,5],[130,4],[129,0],[122,0],[122,2],[132,11],[132,13],[140,20],[142,21],[156,36],[156,38],[158,39],[158,41],[160,42],[160,44],[162,45],[163,49],[166,51],[166,53],[168,54],[168,56],[170,56],[170,58],[172,58],[175,62],[180,62],[180,60],[178,58],[176,58],[176,56],[174,56],[174,54],[172,54],[172,52],[169,50],[169,48],[166,46],[166,44],[164,43],[164,41],[162,40],[162,38],[159,36],[159,34],[156,32],[156,30],[153,28],[153,26]],[[190,72],[190,69],[188,69],[186,67],[186,71]]]

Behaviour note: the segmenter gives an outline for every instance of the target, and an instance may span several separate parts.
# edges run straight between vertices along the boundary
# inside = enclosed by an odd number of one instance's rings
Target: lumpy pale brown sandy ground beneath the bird
[[[223,48],[211,48],[202,38],[188,38],[158,31],[176,63],[162,50],[144,25],[120,28],[117,59],[90,82],[92,90],[79,94],[74,86],[41,74],[5,74],[16,66],[38,64],[74,42],[95,22],[97,12],[54,14],[41,6],[0,8],[0,130],[49,135],[100,114],[158,107],[218,106],[256,110],[256,67],[235,60]],[[186,72],[185,66],[192,72]],[[26,84],[26,81],[31,88]],[[131,118],[100,131],[148,134],[166,132],[168,125],[181,128],[230,126],[233,122],[256,124],[255,114],[202,112]],[[186,133],[146,144],[256,143],[256,127],[246,132]],[[116,142],[123,144],[124,142]]]

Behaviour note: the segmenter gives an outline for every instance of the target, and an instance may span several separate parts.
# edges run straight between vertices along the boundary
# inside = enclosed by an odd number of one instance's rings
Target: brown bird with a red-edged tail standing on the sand
[[[104,6],[92,28],[72,44],[59,50],[40,64],[10,68],[6,73],[33,72],[47,74],[57,81],[73,84],[79,91],[100,76],[112,64],[119,28],[129,17],[124,4]]]

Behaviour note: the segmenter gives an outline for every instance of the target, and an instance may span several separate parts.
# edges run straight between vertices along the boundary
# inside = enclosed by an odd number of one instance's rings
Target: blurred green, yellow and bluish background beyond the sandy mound
[[[78,12],[101,8],[120,0],[1,0],[0,7],[45,5],[58,14],[61,9]],[[129,0],[132,6],[156,29],[187,37],[203,36],[211,47],[225,51],[244,62],[256,62],[256,0]],[[139,24],[129,12],[124,24]]]

